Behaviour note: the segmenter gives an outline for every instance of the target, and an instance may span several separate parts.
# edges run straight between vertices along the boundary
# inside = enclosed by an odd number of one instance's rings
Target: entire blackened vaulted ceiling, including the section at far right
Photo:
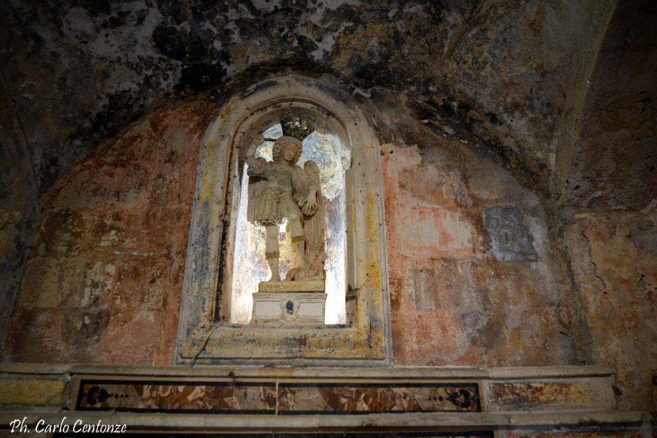
[[[280,70],[404,93],[567,205],[656,193],[651,1],[4,3],[3,97],[40,193],[143,114]]]

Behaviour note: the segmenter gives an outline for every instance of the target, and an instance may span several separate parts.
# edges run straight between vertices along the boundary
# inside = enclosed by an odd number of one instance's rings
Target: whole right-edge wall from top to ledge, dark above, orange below
[[[591,361],[619,405],[657,414],[657,5],[619,2],[575,129],[559,200]]]

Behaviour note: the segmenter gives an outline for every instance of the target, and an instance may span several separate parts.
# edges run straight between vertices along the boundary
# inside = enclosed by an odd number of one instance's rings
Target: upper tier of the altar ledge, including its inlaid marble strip
[[[53,374],[55,370],[61,374]],[[280,411],[295,416],[614,411],[617,406],[608,373],[605,367],[188,368],[5,363],[0,365],[0,385],[8,389],[0,394],[0,409],[68,406],[79,411],[140,409],[185,411],[186,415],[205,411],[275,415]],[[222,401],[228,393],[235,394],[238,404]],[[189,394],[195,394],[194,400]],[[82,401],[87,397],[94,399]],[[203,402],[206,399],[214,401],[208,404]]]

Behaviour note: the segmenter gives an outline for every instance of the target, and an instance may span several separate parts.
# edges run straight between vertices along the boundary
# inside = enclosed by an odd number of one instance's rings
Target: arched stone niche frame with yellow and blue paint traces
[[[343,197],[330,209],[342,220],[345,237],[338,251],[343,273],[332,288],[340,289],[336,296],[344,316],[340,321],[327,317],[327,324],[312,318],[301,324],[249,324],[236,318],[234,290],[244,258],[235,248],[245,238],[239,234],[245,153],[253,138],[274,129],[280,117],[290,113],[308,120],[339,146],[334,149],[342,163]],[[331,83],[276,77],[233,96],[201,145],[176,363],[390,363],[381,187],[380,147],[371,122]]]

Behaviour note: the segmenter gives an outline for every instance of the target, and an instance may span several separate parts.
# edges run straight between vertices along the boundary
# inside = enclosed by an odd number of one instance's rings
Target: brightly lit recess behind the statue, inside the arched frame
[[[325,324],[345,324],[347,319],[345,296],[347,292],[347,218],[346,197],[347,171],[351,168],[351,149],[346,131],[338,120],[319,112],[314,105],[300,102],[288,102],[264,107],[245,121],[245,133],[241,136],[249,139],[264,137],[272,139],[282,136],[280,118],[294,112],[314,127],[314,131],[303,141],[303,153],[297,165],[303,166],[307,159],[318,164],[321,175],[325,219]],[[227,233],[227,245],[223,254],[223,284],[217,285],[221,291],[218,308],[215,311],[219,321],[234,324],[248,324],[251,320],[253,303],[252,293],[258,290],[258,283],[269,278],[270,271],[264,259],[264,227],[256,227],[247,221],[248,177],[245,164],[245,148],[239,142],[240,149],[232,157],[232,175],[228,185],[227,216],[230,214],[232,227]],[[267,161],[272,158],[273,141],[264,141],[256,149],[256,156]],[[228,210],[230,209],[230,213]],[[283,225],[281,231],[286,230]],[[283,237],[283,236],[281,236]],[[287,235],[280,237],[281,270],[284,278],[293,259]],[[351,280],[351,279],[349,279]],[[351,284],[351,283],[349,283]],[[353,310],[353,309],[350,309]],[[350,317],[353,315],[349,315]]]

